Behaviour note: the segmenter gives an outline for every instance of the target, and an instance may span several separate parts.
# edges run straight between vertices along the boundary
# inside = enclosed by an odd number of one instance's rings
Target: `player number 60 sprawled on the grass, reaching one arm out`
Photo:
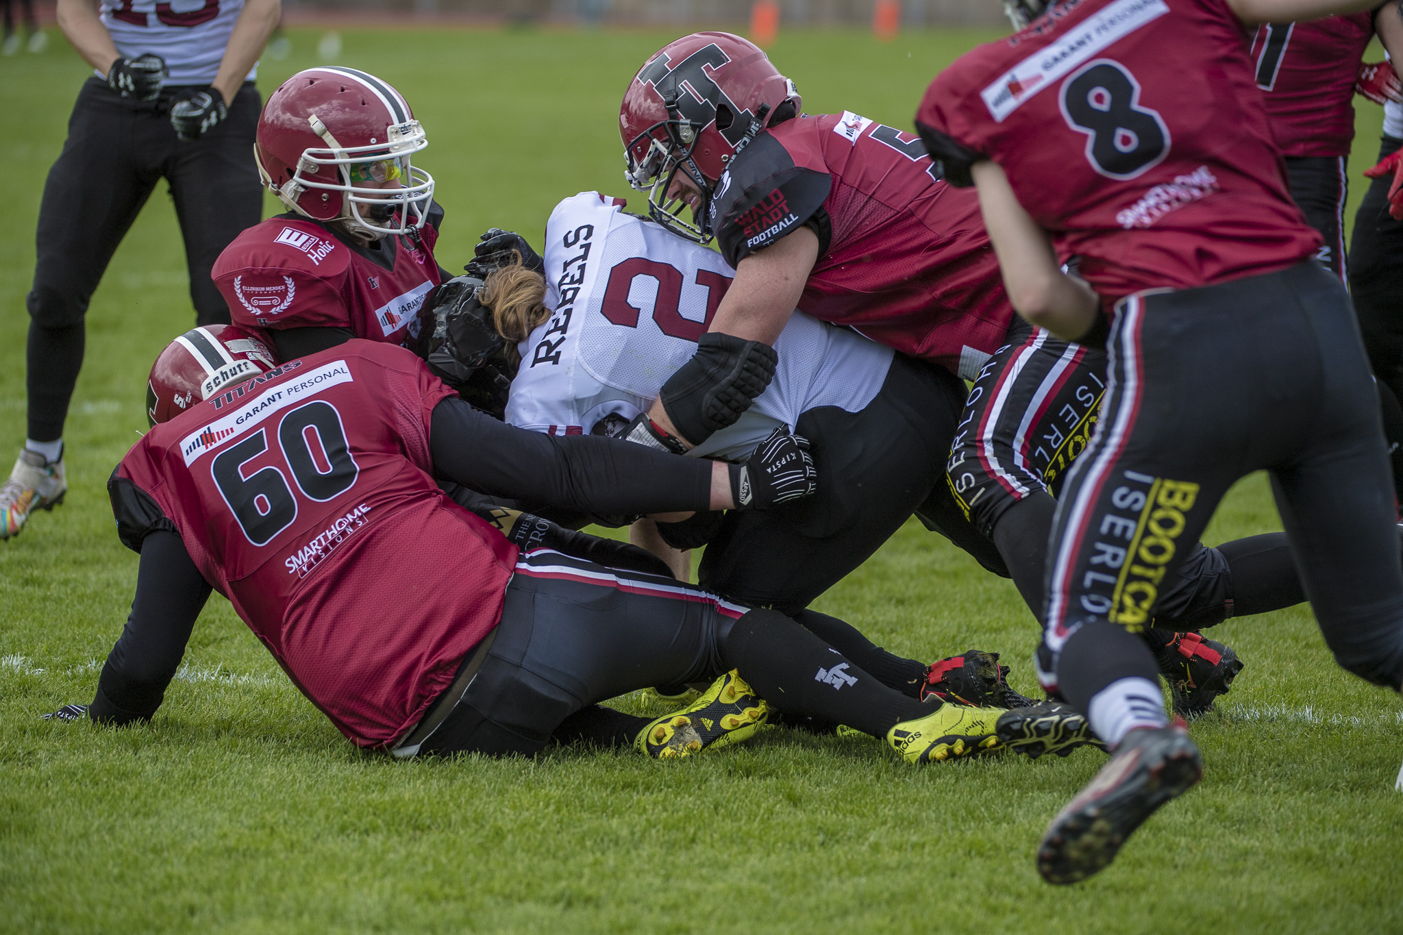
[[[199,369],[185,387],[203,395],[209,383],[210,395],[152,429],[109,481],[118,534],[142,555],[136,597],[93,704],[58,716],[150,719],[217,587],[344,735],[400,756],[530,754],[553,739],[685,754],[752,730],[763,695],[885,736],[911,761],[999,746],[999,709],[922,705],[774,611],[561,548],[523,551],[434,482],[582,512],[767,509],[812,493],[793,436],[745,465],[706,463],[505,426],[384,343],[272,369],[212,329],[177,348]],[[243,363],[258,374],[209,373]],[[387,589],[405,596],[389,613]],[[596,707],[727,670],[682,721]],[[1076,715],[1052,726],[1085,735]]]

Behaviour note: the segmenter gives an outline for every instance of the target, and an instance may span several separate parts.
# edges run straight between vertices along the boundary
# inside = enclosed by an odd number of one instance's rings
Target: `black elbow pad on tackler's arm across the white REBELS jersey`
[[[658,398],[672,425],[692,444],[730,425],[774,378],[779,355],[759,341],[710,331],[697,352],[662,384]]]

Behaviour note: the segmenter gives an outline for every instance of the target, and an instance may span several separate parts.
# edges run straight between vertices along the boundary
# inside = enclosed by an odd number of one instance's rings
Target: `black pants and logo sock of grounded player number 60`
[[[553,737],[631,743],[648,721],[598,702],[731,669],[786,712],[874,736],[929,712],[783,614],[553,550],[521,557],[495,634],[422,753],[535,754]]]

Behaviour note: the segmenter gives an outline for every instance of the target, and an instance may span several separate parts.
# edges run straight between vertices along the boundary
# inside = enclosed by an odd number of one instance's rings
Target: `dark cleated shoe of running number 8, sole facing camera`
[[[1038,873],[1048,883],[1076,883],[1101,871],[1145,819],[1202,777],[1204,760],[1183,726],[1131,730],[1052,819],[1038,845]]]

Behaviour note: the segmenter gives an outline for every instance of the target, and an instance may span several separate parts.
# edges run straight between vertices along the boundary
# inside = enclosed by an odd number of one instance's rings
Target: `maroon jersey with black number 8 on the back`
[[[1222,0],[1068,0],[958,59],[916,122],[951,178],[999,163],[1108,300],[1282,269],[1320,244]]]

